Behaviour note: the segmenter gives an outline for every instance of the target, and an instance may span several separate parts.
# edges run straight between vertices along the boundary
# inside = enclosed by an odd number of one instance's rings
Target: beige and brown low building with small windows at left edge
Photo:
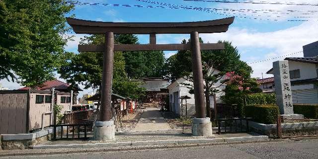
[[[53,105],[71,109],[71,93],[52,90],[0,90],[0,134],[25,134],[53,124]]]

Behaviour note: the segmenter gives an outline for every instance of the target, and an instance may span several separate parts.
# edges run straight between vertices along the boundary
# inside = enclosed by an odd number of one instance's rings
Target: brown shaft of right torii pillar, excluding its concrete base
[[[196,118],[206,118],[199,33],[190,34]]]

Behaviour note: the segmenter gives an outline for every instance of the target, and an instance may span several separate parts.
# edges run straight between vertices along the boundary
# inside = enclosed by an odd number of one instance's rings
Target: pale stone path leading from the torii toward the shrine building
[[[168,123],[164,121],[158,108],[146,107],[138,121],[135,131],[170,130]]]

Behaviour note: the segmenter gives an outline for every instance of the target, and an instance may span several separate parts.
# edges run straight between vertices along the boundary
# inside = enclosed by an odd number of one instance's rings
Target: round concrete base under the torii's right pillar
[[[192,119],[193,136],[213,136],[212,123],[210,118],[193,118]]]

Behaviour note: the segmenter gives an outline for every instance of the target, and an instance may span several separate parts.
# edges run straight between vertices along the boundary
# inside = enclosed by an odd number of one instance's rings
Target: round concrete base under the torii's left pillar
[[[105,141],[115,139],[114,120],[97,121],[94,127],[94,140]]]

